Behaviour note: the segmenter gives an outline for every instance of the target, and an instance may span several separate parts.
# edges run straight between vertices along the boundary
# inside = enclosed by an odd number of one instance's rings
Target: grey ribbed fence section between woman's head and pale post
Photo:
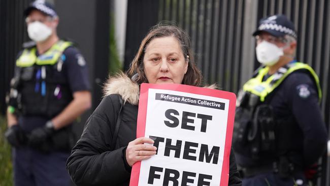
[[[175,20],[191,37],[205,82],[237,92],[240,82],[244,1],[160,1],[159,20]],[[233,75],[235,74],[235,76]]]

